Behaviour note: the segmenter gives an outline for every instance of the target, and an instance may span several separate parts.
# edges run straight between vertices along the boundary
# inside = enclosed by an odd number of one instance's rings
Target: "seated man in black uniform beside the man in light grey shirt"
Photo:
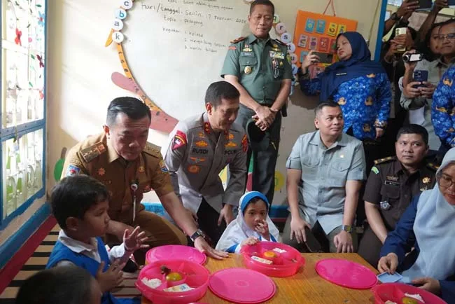
[[[358,247],[358,254],[374,267],[387,234],[395,229],[412,197],[435,186],[437,159],[426,156],[428,148],[425,127],[407,125],[398,131],[396,157],[374,161],[363,195],[369,227]]]

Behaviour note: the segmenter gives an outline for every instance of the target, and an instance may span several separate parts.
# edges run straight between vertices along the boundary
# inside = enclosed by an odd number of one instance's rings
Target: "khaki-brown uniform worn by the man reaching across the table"
[[[126,161],[116,153],[106,134],[92,136],[73,146],[66,156],[63,176],[75,174],[87,174],[101,181],[111,195],[111,219],[141,226],[149,236],[151,247],[186,244],[186,237],[179,228],[156,214],[146,212],[140,204],[144,193],[152,189],[159,197],[174,191],[160,147],[147,144],[137,160]]]

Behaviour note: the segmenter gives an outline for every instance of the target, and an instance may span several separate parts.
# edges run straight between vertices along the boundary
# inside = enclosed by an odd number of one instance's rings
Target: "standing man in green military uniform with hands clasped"
[[[292,69],[288,47],[271,39],[274,5],[268,0],[253,1],[248,15],[252,34],[232,41],[221,76],[240,92],[237,122],[244,128],[254,120],[267,133],[265,148],[250,146],[248,167],[253,155],[253,191],[267,196],[272,203],[276,158],[281,128],[281,107],[290,92]],[[246,130],[248,132],[248,130]]]

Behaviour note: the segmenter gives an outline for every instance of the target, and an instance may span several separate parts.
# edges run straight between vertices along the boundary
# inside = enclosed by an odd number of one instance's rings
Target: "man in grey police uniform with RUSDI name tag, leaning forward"
[[[176,125],[165,155],[174,191],[212,244],[234,219],[232,208],[245,189],[248,140],[235,123],[239,96],[226,81],[212,83],[205,96],[207,111]],[[219,174],[227,165],[230,178],[224,190]]]

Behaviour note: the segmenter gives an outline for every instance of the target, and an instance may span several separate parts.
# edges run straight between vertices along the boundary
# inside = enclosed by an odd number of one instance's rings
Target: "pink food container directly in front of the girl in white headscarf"
[[[272,251],[275,256],[266,258],[264,256],[266,251]],[[290,277],[295,275],[305,263],[299,251],[278,242],[258,242],[252,246],[244,246],[240,253],[244,256],[244,263],[247,268],[262,272],[270,277]],[[268,259],[272,261],[272,264],[255,261],[252,256]]]

